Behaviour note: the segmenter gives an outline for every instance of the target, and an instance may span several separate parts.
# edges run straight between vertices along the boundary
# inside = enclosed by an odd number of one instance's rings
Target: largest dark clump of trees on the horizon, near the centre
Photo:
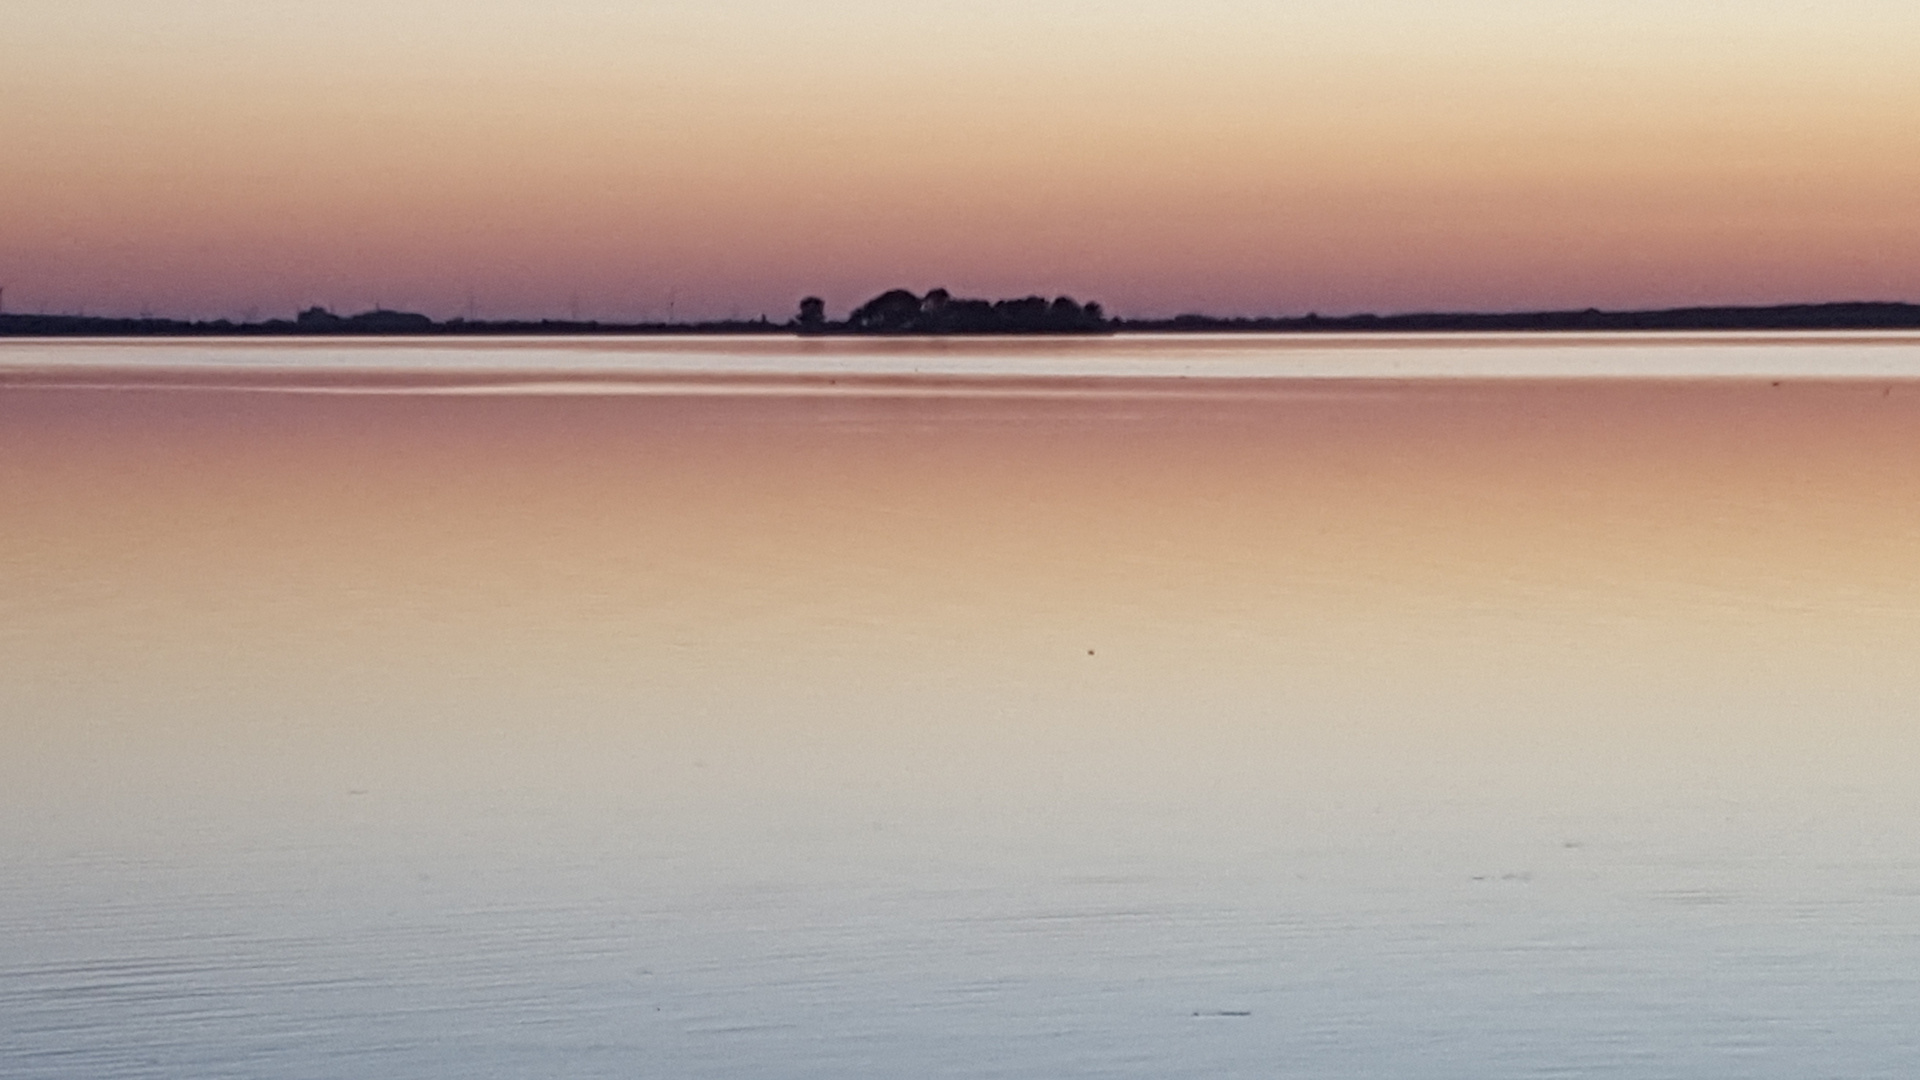
[[[1098,334],[1112,327],[1098,304],[1079,304],[1071,296],[1046,300],[964,300],[945,288],[916,296],[893,288],[852,309],[845,323],[829,323],[826,302],[801,300],[793,321],[810,334]]]

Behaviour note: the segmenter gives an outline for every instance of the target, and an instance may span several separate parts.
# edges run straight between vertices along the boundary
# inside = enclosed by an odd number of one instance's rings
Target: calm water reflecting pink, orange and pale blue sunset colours
[[[1920,338],[0,346],[0,1074],[1910,1076]]]

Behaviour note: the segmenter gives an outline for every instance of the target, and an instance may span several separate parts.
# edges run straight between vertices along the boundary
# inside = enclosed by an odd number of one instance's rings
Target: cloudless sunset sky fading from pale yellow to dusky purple
[[[1910,0],[10,0],[8,311],[1920,302]]]

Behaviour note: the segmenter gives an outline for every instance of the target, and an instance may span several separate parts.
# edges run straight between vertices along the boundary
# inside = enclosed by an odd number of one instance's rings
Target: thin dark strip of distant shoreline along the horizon
[[[1331,332],[1645,332],[1645,331],[1920,331],[1920,304],[1780,304],[1768,307],[1665,307],[1647,311],[1509,311],[1509,313],[1409,313],[1409,315],[1304,315],[1304,317],[1215,317],[1177,315],[1171,319],[1098,319],[1071,329],[1044,331],[1054,336],[1108,334],[1331,334]],[[334,336],[1023,336],[1020,329],[895,329],[854,323],[768,319],[722,319],[708,323],[603,323],[574,319],[449,319],[434,321],[405,311],[367,311],[328,317],[324,323],[267,319],[234,323],[228,319],[115,319],[98,315],[0,315],[0,338],[334,338]]]

